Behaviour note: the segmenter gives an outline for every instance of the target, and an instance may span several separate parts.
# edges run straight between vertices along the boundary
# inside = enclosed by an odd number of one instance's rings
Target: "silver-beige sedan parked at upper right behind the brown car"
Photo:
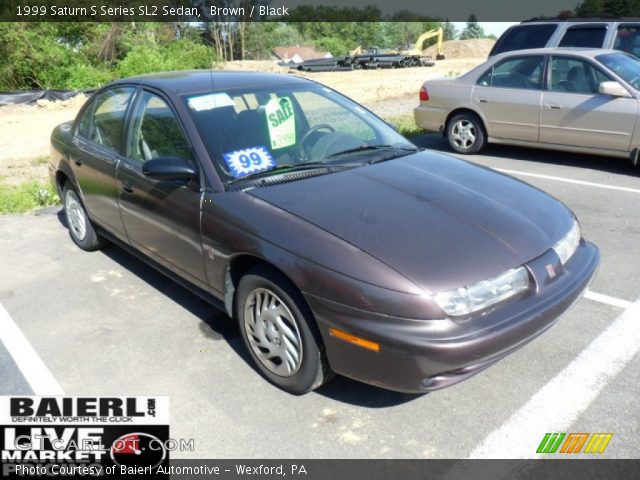
[[[638,163],[640,60],[613,50],[543,48],[429,80],[414,110],[460,153],[487,142],[613,155]]]

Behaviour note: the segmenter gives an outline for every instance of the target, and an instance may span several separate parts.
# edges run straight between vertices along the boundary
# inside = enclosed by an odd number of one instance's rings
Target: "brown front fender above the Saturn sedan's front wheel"
[[[220,298],[228,290],[229,265],[239,256],[250,256],[280,270],[303,294],[383,314],[429,315],[426,295],[399,272],[246,193],[207,194],[202,235],[207,275]]]

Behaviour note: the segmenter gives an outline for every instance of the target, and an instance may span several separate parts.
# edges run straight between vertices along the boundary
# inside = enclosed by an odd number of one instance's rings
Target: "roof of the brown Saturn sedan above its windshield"
[[[177,95],[228,90],[232,88],[261,87],[273,85],[300,85],[315,83],[304,78],[281,73],[251,71],[187,70],[153,73],[123,78],[113,82],[118,84],[139,84],[172,91]]]

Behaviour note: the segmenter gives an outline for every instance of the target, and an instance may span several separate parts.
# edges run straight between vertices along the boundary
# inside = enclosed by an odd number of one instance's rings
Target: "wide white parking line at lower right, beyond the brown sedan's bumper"
[[[609,381],[640,352],[640,300],[632,303],[567,367],[502,426],[474,448],[470,458],[535,458],[546,432],[563,432]]]

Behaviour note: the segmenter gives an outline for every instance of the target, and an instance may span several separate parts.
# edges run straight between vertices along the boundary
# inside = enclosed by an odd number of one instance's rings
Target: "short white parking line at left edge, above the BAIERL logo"
[[[64,395],[62,387],[2,304],[0,304],[0,341],[13,357],[35,395]]]

